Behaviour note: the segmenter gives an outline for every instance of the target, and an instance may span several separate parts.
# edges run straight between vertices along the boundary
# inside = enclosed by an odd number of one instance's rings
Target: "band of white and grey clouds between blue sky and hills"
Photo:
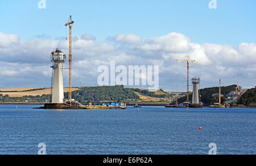
[[[201,87],[241,82],[244,87],[255,86],[256,44],[241,43],[237,48],[221,44],[197,44],[183,34],[172,32],[152,39],[134,34],[109,37],[118,42],[99,42],[90,34],[74,36],[73,85],[94,86],[97,67],[109,65],[159,65],[160,88],[185,90],[187,64],[173,59],[196,60],[191,64],[191,77],[201,77]],[[0,86],[44,87],[51,86],[50,54],[59,47],[68,55],[66,40],[27,40],[0,32]],[[68,67],[68,63],[64,64]],[[64,86],[68,86],[68,73],[64,72]]]

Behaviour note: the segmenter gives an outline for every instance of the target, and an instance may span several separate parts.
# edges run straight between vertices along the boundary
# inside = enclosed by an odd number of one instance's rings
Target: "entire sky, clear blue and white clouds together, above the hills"
[[[50,54],[68,54],[64,26],[72,14],[73,86],[97,85],[97,68],[159,65],[159,86],[185,91],[187,65],[201,88],[256,86],[256,1],[1,1],[0,88],[51,86]],[[68,67],[68,63],[65,64]],[[64,72],[64,86],[68,73]],[[143,88],[143,87],[141,87]]]

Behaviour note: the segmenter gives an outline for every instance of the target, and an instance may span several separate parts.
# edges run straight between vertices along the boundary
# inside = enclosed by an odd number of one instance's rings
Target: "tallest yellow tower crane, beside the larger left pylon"
[[[65,26],[69,26],[69,81],[68,81],[68,99],[72,99],[72,26],[75,23],[72,20],[72,16],[69,18],[69,22]]]

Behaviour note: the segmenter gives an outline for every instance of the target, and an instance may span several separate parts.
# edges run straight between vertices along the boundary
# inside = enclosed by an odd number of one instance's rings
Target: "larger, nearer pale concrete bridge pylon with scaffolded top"
[[[64,102],[64,87],[63,87],[63,63],[66,55],[59,49],[51,54],[53,62],[53,86],[52,86],[52,103]]]

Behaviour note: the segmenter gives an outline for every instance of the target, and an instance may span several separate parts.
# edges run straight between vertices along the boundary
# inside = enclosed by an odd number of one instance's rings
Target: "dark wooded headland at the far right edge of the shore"
[[[237,101],[238,105],[256,105],[256,88],[249,89],[243,94],[240,99]]]

